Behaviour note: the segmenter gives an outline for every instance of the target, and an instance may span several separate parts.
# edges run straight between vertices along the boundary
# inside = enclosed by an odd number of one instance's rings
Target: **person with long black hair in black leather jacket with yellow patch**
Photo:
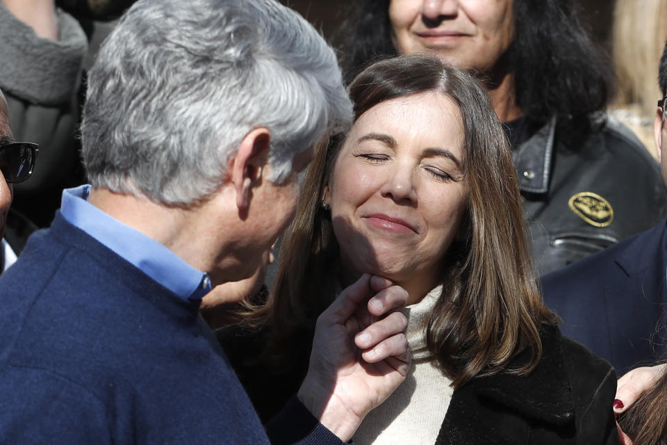
[[[664,218],[657,163],[602,115],[612,70],[575,1],[361,0],[347,35],[347,79],[426,52],[482,82],[513,148],[540,275]]]

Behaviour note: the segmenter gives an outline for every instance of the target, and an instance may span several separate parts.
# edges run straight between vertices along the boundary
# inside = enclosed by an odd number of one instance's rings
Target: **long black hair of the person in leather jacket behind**
[[[377,58],[393,56],[390,0],[360,0],[345,24],[345,79]],[[534,124],[554,115],[570,147],[602,122],[613,91],[609,58],[579,22],[573,0],[513,0],[514,36],[503,58],[514,75],[516,103]]]

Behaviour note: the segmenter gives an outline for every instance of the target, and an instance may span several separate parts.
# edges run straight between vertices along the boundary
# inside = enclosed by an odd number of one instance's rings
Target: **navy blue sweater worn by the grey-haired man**
[[[198,310],[58,214],[0,277],[0,443],[268,443]],[[295,400],[269,429],[340,444]]]

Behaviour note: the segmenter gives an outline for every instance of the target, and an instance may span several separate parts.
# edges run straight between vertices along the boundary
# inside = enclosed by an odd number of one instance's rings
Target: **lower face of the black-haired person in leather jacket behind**
[[[391,0],[400,54],[429,53],[460,68],[492,70],[513,35],[513,0]]]

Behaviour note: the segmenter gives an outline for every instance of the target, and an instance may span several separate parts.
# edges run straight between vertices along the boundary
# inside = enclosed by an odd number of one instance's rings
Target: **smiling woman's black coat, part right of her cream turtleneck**
[[[527,377],[491,375],[456,389],[436,444],[618,444],[614,370],[556,329],[542,338]]]

